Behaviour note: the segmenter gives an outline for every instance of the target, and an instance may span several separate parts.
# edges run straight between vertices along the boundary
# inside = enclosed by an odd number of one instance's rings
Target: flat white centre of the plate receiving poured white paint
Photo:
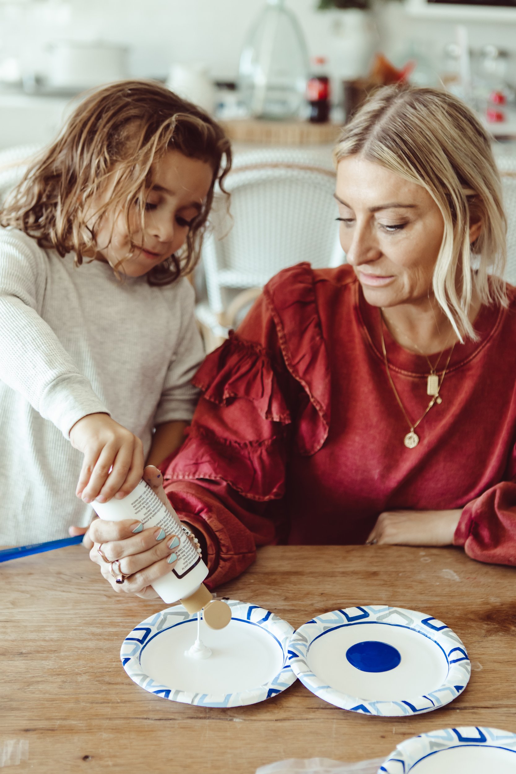
[[[196,618],[155,635],[142,649],[142,671],[173,690],[234,694],[268,683],[281,670],[282,646],[266,629],[232,618],[218,631],[203,626],[208,659],[186,656],[196,637]]]

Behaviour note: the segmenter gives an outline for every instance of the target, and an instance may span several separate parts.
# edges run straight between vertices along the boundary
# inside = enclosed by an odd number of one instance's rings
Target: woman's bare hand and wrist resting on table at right
[[[451,546],[462,509],[385,511],[366,543],[390,546]]]

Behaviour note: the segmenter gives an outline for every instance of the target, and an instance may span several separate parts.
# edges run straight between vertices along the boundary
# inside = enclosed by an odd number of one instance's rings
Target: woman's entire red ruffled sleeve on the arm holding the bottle
[[[203,396],[163,478],[207,540],[213,587],[248,567],[256,546],[285,539],[289,457],[315,454],[328,433],[330,370],[309,264],[268,283],[193,384]]]

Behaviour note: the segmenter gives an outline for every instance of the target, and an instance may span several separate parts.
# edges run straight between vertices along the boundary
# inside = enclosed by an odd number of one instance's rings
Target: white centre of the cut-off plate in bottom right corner
[[[410,769],[415,774],[514,774],[516,752],[499,747],[460,745],[427,755]]]

